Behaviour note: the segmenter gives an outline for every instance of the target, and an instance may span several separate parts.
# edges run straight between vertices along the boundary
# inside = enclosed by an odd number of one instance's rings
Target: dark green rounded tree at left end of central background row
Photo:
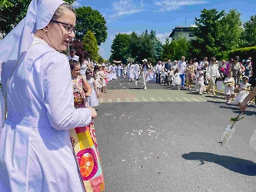
[[[129,43],[130,35],[121,33],[115,35],[115,39],[111,45],[112,59],[126,63],[127,58],[131,55]]]

